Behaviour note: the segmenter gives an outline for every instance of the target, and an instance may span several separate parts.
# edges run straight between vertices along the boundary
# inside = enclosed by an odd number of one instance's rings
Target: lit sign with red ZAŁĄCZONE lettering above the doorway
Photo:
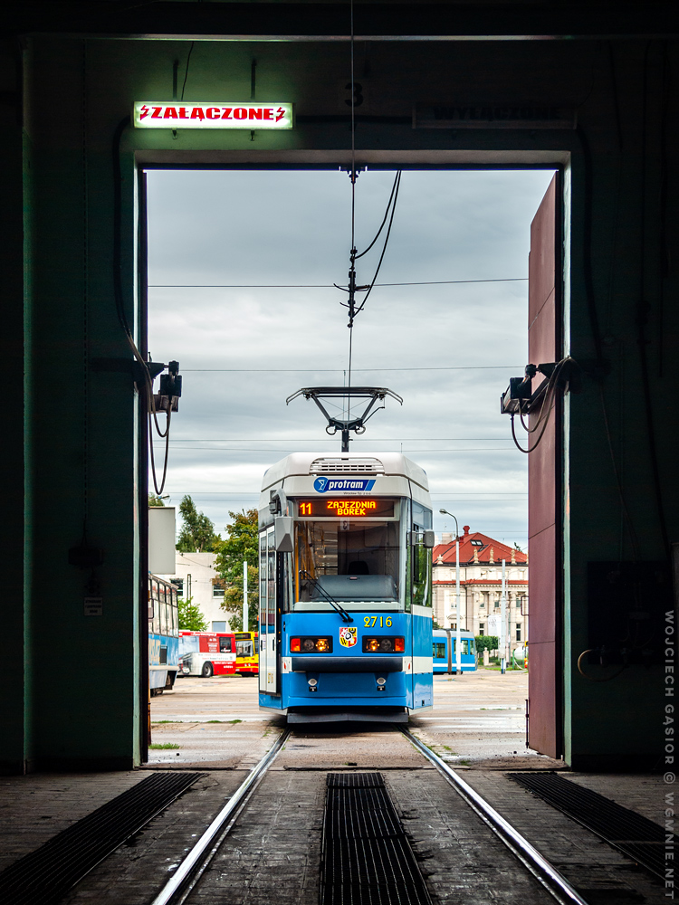
[[[292,129],[292,104],[136,100],[136,129]]]

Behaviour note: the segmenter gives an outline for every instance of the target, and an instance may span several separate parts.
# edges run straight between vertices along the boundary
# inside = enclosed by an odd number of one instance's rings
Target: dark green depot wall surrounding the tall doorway
[[[6,412],[11,462],[2,478],[10,513],[5,551],[11,550],[12,559],[5,620],[12,668],[0,711],[8,740],[2,766],[9,770],[139,763],[136,462],[138,456],[143,462],[143,451],[136,448],[129,347],[113,296],[111,141],[133,100],[171,100],[173,62],[178,59],[183,72],[187,49],[188,42],[177,40],[31,38],[22,59],[23,128],[14,123],[0,138],[4,171],[11,175],[0,191],[12,212],[1,227],[7,267],[0,280],[9,300],[11,379],[17,387]],[[5,48],[5,62],[14,53]],[[575,662],[588,646],[588,561],[631,557],[621,530],[602,393],[640,558],[664,556],[638,355],[642,291],[665,517],[670,539],[679,540],[673,467],[677,287],[675,265],[666,267],[661,254],[662,243],[677,245],[676,218],[668,214],[679,197],[674,170],[665,166],[661,172],[660,166],[663,141],[665,148],[676,145],[679,118],[675,85],[665,94],[661,90],[664,53],[679,71],[674,42],[650,42],[648,49],[641,41],[371,42],[357,57],[368,97],[361,111],[367,119],[359,119],[357,130],[359,164],[541,164],[563,165],[568,172],[564,351],[585,374],[582,392],[570,395],[567,405],[564,737],[567,762],[582,768],[653,766],[662,754],[663,668],[631,667],[615,681],[594,683],[579,675]],[[123,136],[122,276],[130,321],[139,303],[136,167],[349,163],[340,91],[349,71],[348,45],[196,42],[186,100],[249,99],[253,59],[256,99],[293,101],[294,130],[256,131],[253,141],[249,130],[186,130],[173,138],[169,129],[128,129]],[[11,66],[7,80],[10,71]],[[413,129],[407,118],[422,101],[577,108],[592,152],[591,198],[577,131]],[[23,186],[26,205],[23,229],[17,186]],[[596,352],[583,256],[589,210],[593,295],[608,363],[601,380],[591,376]],[[81,543],[83,520],[88,542],[105,551],[94,575],[100,583],[94,595],[103,598],[101,617],[83,615],[90,573],[68,563],[69,548]]]

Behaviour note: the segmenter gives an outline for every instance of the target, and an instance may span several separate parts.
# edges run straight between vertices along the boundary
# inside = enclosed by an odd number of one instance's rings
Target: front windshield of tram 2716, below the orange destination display
[[[299,520],[297,600],[320,604],[330,595],[349,608],[352,602],[397,602],[399,530],[398,519]]]

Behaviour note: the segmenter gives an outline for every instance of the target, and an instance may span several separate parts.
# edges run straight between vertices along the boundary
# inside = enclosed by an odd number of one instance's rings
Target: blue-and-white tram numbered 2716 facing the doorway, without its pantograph
[[[432,510],[405,456],[298,452],[264,475],[259,702],[288,722],[432,706]]]

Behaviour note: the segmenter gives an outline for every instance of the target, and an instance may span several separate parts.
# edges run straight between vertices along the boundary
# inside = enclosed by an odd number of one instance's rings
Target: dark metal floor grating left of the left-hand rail
[[[158,773],[117,795],[0,873],[3,905],[51,905],[203,773]]]

